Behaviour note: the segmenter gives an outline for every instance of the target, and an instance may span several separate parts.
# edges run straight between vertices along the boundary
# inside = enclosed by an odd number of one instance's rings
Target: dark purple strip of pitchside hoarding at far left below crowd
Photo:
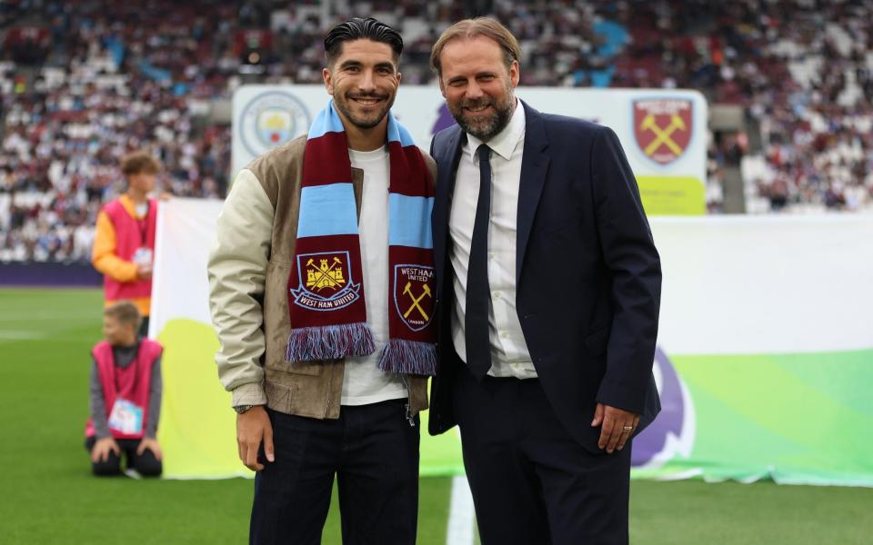
[[[0,286],[98,287],[103,275],[91,263],[0,263]]]

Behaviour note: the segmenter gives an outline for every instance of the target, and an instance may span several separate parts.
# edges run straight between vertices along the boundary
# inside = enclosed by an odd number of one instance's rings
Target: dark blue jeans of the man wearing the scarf
[[[415,543],[419,426],[405,399],[344,405],[337,420],[267,412],[276,461],[255,476],[251,543],[320,543],[334,475],[344,544]]]

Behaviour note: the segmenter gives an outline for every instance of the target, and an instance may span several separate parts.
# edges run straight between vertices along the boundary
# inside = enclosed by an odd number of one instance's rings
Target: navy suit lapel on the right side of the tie
[[[519,101],[520,102],[520,101]],[[525,151],[521,158],[521,182],[518,187],[516,283],[521,281],[521,268],[525,263],[527,241],[537,214],[539,197],[543,193],[548,172],[548,155],[543,151],[548,147],[546,126],[542,115],[524,102],[525,108]]]

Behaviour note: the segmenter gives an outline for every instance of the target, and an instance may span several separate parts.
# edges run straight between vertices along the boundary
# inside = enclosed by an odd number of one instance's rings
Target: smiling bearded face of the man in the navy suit
[[[485,36],[452,40],[439,58],[439,89],[448,111],[467,133],[487,142],[507,126],[515,111],[517,61],[507,69],[503,50]]]

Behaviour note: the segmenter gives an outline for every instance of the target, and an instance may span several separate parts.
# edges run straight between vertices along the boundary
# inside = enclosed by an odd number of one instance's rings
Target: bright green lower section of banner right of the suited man
[[[873,350],[671,360],[693,448],[635,476],[873,486]]]

